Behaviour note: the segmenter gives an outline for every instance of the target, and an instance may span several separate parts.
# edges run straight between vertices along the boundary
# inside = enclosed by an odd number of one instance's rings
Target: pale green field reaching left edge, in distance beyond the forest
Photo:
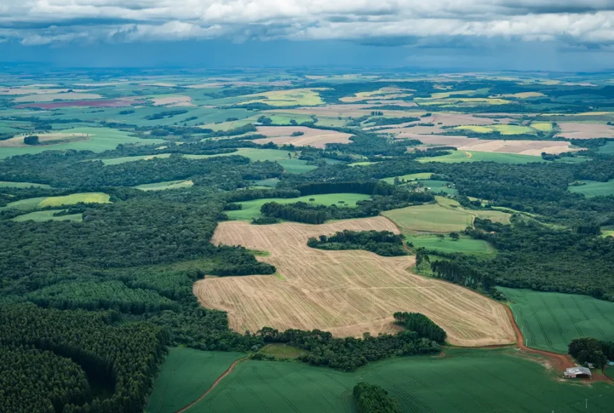
[[[50,144],[29,147],[1,147],[0,159],[8,158],[9,156],[25,155],[27,153],[40,153],[43,151],[64,151],[66,149],[74,149],[75,151],[93,151],[103,152],[115,149],[118,144],[157,144],[164,142],[159,139],[139,139],[138,137],[130,136],[129,132],[112,128],[73,128],[67,130],[54,130],[59,133],[85,133],[89,135],[88,140],[80,142],[68,142],[63,144]]]

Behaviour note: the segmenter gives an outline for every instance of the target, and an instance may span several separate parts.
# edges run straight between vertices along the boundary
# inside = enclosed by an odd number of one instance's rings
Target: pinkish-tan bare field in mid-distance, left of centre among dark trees
[[[255,139],[257,144],[293,144],[297,147],[324,148],[326,144],[350,143],[350,133],[341,133],[336,130],[312,129],[306,126],[258,126],[258,133],[266,135],[262,139]],[[294,132],[304,135],[292,136]]]

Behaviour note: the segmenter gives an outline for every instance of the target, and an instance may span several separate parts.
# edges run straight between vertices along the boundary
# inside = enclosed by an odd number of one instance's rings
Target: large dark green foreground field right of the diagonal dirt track
[[[614,403],[610,384],[560,382],[515,350],[447,349],[443,357],[391,359],[354,373],[243,361],[188,412],[357,412],[352,388],[360,381],[379,384],[408,413],[608,412]]]

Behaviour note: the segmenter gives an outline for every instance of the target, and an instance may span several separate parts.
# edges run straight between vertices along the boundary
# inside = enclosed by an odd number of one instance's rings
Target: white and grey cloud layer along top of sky
[[[415,44],[419,38],[614,43],[614,0],[1,0],[23,45],[227,38]]]

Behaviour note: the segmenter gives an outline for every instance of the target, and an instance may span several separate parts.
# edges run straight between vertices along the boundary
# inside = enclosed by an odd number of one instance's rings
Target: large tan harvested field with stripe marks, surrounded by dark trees
[[[360,250],[309,248],[310,236],[340,230],[388,230],[382,216],[324,225],[220,223],[212,242],[268,251],[258,260],[277,275],[207,277],[194,294],[207,308],[228,312],[236,331],[321,329],[335,336],[361,336],[396,329],[393,313],[424,313],[447,331],[449,343],[482,346],[514,343],[504,307],[458,285],[414,275],[414,257],[380,257]]]

